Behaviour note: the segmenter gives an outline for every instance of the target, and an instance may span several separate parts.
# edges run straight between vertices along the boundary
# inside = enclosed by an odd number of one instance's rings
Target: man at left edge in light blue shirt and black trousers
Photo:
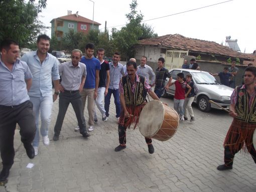
[[[21,130],[21,140],[29,158],[34,158],[32,141],[36,133],[33,104],[29,101],[28,90],[32,74],[26,62],[20,61],[19,45],[13,40],[0,44],[0,152],[3,169],[0,185],[7,182],[14,163],[14,134],[16,124]]]

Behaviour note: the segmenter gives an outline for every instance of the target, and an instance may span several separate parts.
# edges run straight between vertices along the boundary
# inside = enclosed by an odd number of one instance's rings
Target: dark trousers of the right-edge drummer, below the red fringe
[[[238,133],[236,135],[236,139],[238,139]],[[252,141],[252,138],[251,138],[251,141]],[[236,143],[235,141],[232,141],[232,142]],[[230,143],[230,142],[228,142],[228,143]],[[256,163],[256,151],[255,151],[255,148],[253,147],[252,142],[246,143],[246,141],[245,141],[245,145],[247,147],[248,152],[251,154],[251,157],[253,158],[254,162]],[[226,165],[228,165],[228,166],[233,165],[234,155],[235,155],[235,153],[237,153],[242,148],[242,146],[243,146],[243,143],[241,143],[239,145],[239,149],[233,149],[232,152],[231,152],[228,145],[225,146],[225,148],[224,148],[224,161],[225,161]]]

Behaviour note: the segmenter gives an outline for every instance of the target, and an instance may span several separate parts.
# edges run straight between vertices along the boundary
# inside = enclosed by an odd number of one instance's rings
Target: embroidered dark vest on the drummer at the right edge
[[[235,110],[237,116],[235,118],[246,123],[256,124],[256,97],[253,99],[248,113],[249,100],[247,98],[249,98],[249,95],[245,89],[240,88],[241,86],[236,88],[237,100]]]

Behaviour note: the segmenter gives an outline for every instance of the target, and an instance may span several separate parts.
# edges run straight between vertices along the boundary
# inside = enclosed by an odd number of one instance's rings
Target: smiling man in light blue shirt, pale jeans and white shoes
[[[59,61],[56,57],[48,54],[50,48],[50,38],[47,35],[40,35],[37,39],[37,51],[24,55],[21,60],[27,62],[32,75],[33,82],[28,94],[33,103],[33,111],[36,116],[37,132],[33,141],[35,155],[38,154],[39,146],[39,114],[41,113],[41,135],[43,143],[49,145],[48,128],[51,121],[52,104],[59,94]],[[52,79],[55,93],[52,96]]]

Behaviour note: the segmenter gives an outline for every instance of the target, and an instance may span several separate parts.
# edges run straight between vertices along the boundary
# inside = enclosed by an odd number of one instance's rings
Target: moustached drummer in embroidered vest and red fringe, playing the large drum
[[[115,147],[115,151],[120,151],[126,148],[126,129],[132,123],[135,123],[134,128],[139,122],[140,113],[146,105],[146,95],[149,95],[156,100],[159,100],[157,95],[151,91],[147,79],[136,74],[137,64],[129,61],[126,64],[126,76],[123,76],[119,82],[120,102],[122,106],[121,116],[118,122],[119,145]],[[124,94],[125,93],[125,94]],[[145,137],[148,144],[149,153],[154,153],[152,139]]]

